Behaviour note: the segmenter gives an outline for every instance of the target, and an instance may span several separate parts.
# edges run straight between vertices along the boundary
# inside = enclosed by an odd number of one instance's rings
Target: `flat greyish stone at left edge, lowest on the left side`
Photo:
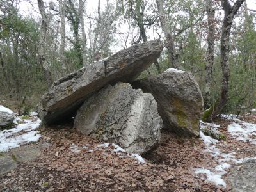
[[[17,162],[13,160],[10,154],[0,154],[0,175],[4,175],[15,168],[17,168]]]

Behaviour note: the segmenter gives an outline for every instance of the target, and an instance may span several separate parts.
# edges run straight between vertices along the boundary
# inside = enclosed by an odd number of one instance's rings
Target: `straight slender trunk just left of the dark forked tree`
[[[212,0],[206,1],[206,11],[208,20],[208,35],[207,35],[207,52],[205,60],[205,94],[204,94],[204,105],[205,108],[209,108],[210,104],[210,93],[212,83],[212,67],[214,65],[214,45],[215,45],[215,23],[214,15],[215,8]]]

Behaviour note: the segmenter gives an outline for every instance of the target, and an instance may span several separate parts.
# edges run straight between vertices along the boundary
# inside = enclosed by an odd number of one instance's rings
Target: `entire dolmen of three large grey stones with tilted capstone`
[[[159,146],[162,128],[198,136],[203,101],[195,77],[168,69],[137,79],[162,51],[160,40],[136,44],[55,81],[38,107],[43,124],[74,117],[81,133],[137,154]]]

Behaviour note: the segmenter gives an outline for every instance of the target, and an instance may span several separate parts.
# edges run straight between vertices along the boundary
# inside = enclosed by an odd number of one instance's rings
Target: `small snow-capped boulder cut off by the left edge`
[[[15,113],[13,113],[12,110],[0,105],[0,128],[8,127],[10,124],[12,124],[14,118]]]

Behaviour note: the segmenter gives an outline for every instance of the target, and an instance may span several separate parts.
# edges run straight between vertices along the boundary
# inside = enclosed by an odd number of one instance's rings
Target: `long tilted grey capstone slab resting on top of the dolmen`
[[[40,118],[45,124],[65,120],[86,98],[106,84],[136,79],[160,56],[162,50],[163,44],[159,40],[136,44],[59,79],[42,96],[42,106],[38,111]]]

